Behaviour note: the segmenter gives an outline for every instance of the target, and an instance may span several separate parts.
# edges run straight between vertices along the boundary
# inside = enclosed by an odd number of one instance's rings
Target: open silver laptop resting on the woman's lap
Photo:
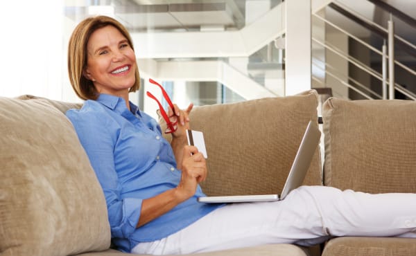
[[[198,198],[198,201],[201,203],[245,203],[283,200],[289,192],[302,185],[306,172],[309,169],[309,165],[311,165],[313,154],[315,154],[316,147],[318,147],[319,140],[320,130],[312,121],[309,121],[300,147],[297,149],[295,160],[293,161],[291,170],[280,194],[201,196]]]

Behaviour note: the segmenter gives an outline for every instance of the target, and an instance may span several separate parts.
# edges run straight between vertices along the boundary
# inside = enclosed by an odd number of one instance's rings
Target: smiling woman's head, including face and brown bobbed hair
[[[107,93],[128,102],[128,93],[140,86],[130,34],[119,21],[105,16],[87,18],[82,25],[76,27],[68,46],[69,79],[74,91],[83,100],[95,100],[100,93]]]

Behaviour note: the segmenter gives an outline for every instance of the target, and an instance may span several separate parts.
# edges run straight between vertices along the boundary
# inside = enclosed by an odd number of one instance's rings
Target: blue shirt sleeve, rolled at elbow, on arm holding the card
[[[114,165],[114,147],[118,127],[108,118],[88,111],[67,111],[89,161],[103,188],[112,237],[129,237],[140,218],[142,199],[121,199],[121,184]]]

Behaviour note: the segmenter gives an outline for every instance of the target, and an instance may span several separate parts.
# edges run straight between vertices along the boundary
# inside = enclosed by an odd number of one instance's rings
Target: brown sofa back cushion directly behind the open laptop
[[[191,129],[207,147],[209,195],[275,194],[283,188],[309,120],[317,122],[318,95],[263,98],[196,107]],[[320,150],[304,184],[321,184]]]

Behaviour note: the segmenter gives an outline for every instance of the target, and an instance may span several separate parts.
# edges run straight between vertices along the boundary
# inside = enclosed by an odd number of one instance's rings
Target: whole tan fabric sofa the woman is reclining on
[[[318,103],[311,90],[195,107],[191,127],[204,132],[208,152],[203,190],[209,195],[281,190],[307,122],[318,123]],[[103,192],[64,116],[80,107],[33,95],[0,98],[2,256],[128,255],[111,246]],[[329,98],[322,109],[322,144],[304,185],[416,192],[415,114],[415,102]],[[198,255],[410,256],[416,255],[416,240],[337,237],[310,248],[267,244]]]

